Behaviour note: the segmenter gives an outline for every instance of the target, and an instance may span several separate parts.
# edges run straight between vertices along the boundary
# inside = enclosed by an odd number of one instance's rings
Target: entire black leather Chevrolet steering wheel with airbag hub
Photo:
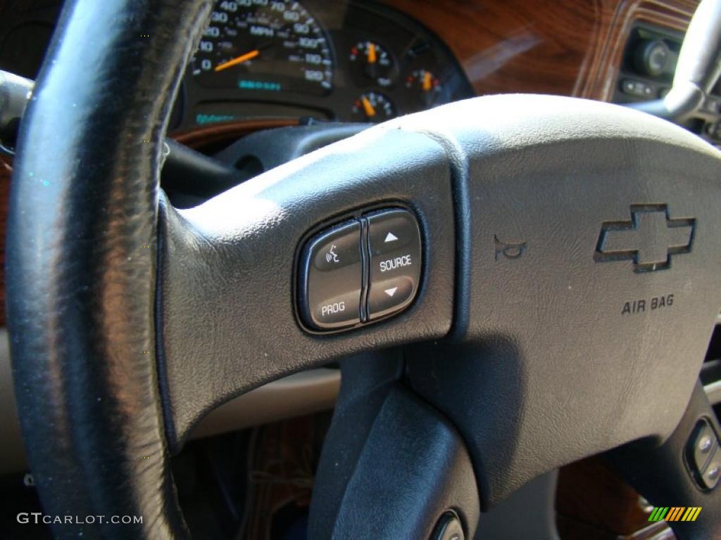
[[[702,507],[670,522],[678,538],[719,534],[696,451],[705,430],[721,456],[697,382],[721,307],[721,153],[611,104],[489,96],[175,210],[162,141],[210,11],[66,1],[22,124],[7,307],[30,466],[51,516],[142,516],[54,534],[189,536],[169,456],[190,428],[331,361],[311,538],[471,538],[481,510],[601,452],[654,505]],[[309,328],[304,246],[391,208],[422,244],[410,305]]]

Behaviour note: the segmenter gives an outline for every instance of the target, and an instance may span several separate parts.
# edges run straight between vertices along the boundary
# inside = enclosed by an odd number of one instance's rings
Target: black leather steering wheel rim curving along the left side
[[[208,0],[66,2],[20,135],[9,329],[43,508],[142,516],[86,525],[89,538],[187,536],[155,358],[156,227],[170,107],[210,9]],[[20,240],[28,228],[30,245]]]

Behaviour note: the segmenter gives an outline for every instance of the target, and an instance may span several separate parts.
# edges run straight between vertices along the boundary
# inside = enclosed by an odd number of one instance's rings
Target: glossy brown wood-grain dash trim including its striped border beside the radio
[[[385,0],[441,38],[477,94],[608,101],[636,20],[685,30],[696,0]]]

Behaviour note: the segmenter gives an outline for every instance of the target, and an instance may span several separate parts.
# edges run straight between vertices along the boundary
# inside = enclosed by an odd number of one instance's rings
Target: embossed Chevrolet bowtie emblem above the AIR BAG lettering
[[[636,272],[662,270],[671,256],[691,251],[695,230],[694,218],[671,219],[666,204],[632,204],[629,221],[603,222],[593,259],[630,260]]]

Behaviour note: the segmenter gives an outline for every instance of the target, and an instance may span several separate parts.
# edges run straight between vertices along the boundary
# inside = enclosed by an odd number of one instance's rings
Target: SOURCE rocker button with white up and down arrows
[[[384,210],[368,216],[371,254],[368,318],[403,310],[415,297],[420,279],[420,230],[407,210]]]

